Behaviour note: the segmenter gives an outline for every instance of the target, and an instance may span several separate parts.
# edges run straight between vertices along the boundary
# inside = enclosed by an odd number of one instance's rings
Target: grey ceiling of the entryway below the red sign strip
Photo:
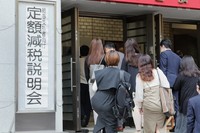
[[[61,0],[62,11],[78,7],[81,14],[96,14],[106,16],[138,16],[150,13],[161,13],[164,19],[174,21],[200,20],[200,10],[147,6],[137,4],[122,4],[113,2],[98,2],[90,0]]]

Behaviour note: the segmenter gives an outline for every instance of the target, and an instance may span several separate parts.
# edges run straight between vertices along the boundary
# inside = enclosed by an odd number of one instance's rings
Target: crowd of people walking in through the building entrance
[[[142,54],[137,41],[129,38],[124,53],[114,43],[103,45],[99,38],[90,47],[80,48],[81,125],[86,127],[93,111],[93,133],[117,133],[117,119],[112,107],[120,83],[120,71],[131,85],[135,107],[132,117],[136,133],[165,133],[167,116],[162,111],[159,87],[172,89],[175,127],[170,132],[200,131],[200,71],[190,55],[179,56],[172,51],[172,42],[160,42],[159,65],[154,66],[150,55]],[[91,66],[103,65],[94,72]]]

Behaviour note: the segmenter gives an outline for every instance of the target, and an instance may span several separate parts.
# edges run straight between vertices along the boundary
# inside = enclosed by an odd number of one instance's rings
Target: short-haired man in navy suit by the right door
[[[166,75],[170,88],[172,88],[174,96],[174,108],[178,111],[178,92],[173,90],[174,82],[179,72],[181,58],[172,50],[172,43],[169,39],[163,39],[160,42],[160,62],[159,67]],[[176,118],[176,115],[175,115]],[[172,130],[173,132],[173,130]]]

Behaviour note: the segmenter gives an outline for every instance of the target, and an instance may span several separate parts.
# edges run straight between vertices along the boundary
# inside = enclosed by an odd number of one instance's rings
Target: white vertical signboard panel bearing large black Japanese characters
[[[53,111],[54,5],[20,2],[18,11],[18,111]]]

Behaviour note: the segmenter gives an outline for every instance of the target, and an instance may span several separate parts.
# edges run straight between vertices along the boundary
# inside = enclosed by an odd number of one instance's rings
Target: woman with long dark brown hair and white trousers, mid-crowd
[[[138,58],[140,57],[141,52],[137,41],[133,38],[127,39],[124,44],[124,48],[125,56],[122,61],[121,69],[125,70],[131,75],[129,83],[131,84],[131,91],[135,93],[135,78],[138,74]],[[136,106],[134,108],[134,111],[132,112],[132,116],[136,131],[137,133],[140,133],[143,126],[143,115],[139,113],[139,110]],[[129,126],[130,125],[131,124],[129,122]]]

